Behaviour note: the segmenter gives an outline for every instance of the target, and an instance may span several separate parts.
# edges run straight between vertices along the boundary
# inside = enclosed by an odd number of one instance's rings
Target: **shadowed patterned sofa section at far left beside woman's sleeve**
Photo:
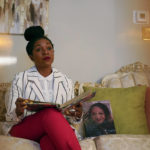
[[[5,121],[5,94],[10,87],[10,83],[0,83],[0,121]]]

